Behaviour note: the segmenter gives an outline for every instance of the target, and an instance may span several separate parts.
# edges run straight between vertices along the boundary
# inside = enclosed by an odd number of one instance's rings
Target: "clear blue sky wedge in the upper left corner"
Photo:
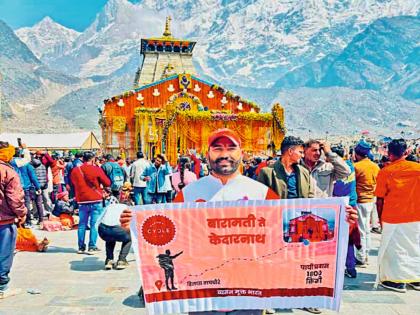
[[[0,19],[13,29],[32,26],[45,16],[75,29],[85,30],[108,0],[0,0]],[[131,1],[138,2],[138,1]]]

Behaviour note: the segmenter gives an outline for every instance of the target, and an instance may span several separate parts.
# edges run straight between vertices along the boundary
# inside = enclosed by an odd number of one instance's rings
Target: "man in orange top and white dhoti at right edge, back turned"
[[[376,286],[420,290],[420,164],[406,161],[403,139],[388,145],[391,164],[378,175],[375,195],[382,221]]]

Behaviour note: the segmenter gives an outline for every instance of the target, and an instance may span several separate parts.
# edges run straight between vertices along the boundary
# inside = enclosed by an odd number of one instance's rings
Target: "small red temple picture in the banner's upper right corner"
[[[285,242],[328,241],[334,238],[334,228],[328,225],[328,220],[313,214],[311,211],[301,211],[301,215],[290,219],[284,230]]]

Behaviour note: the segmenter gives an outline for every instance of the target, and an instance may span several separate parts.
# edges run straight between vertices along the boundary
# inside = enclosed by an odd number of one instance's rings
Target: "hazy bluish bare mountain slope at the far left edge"
[[[54,123],[71,126],[60,116],[48,117],[48,108],[63,95],[89,85],[45,66],[0,20],[0,74],[4,128],[10,131],[54,128]]]

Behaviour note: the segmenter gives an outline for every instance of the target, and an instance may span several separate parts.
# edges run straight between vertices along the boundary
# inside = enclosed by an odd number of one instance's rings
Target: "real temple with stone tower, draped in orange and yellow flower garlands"
[[[133,89],[104,101],[99,124],[106,153],[149,158],[165,153],[174,163],[179,153],[207,151],[208,135],[231,128],[249,153],[274,152],[284,138],[284,111],[270,113],[233,92],[197,76],[196,42],[172,36],[167,18],[162,37],[141,39],[142,63]],[[268,152],[267,152],[268,153]]]

